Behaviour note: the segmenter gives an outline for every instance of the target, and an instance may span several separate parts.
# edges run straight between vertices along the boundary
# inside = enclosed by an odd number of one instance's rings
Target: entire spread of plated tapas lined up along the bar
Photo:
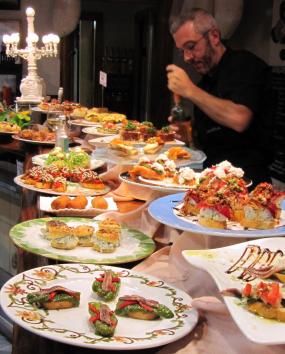
[[[42,102],[36,110],[67,115],[93,151],[83,144],[68,152],[52,146],[15,178],[23,189],[48,195],[40,196],[39,205],[49,217],[12,227],[13,242],[30,253],[74,263],[26,270],[2,287],[2,308],[15,323],[55,341],[109,350],[154,348],[189,334],[198,312],[187,292],[159,277],[113,266],[149,257],[155,251],[150,226],[158,222],[188,237],[252,238],[212,250],[184,249],[179,256],[213,277],[246,337],[285,343],[284,192],[269,183],[249,191],[251,181],[228,161],[197,171],[195,163],[206,156],[176,140],[168,126],[157,129],[106,108],[66,101]],[[56,142],[48,127],[35,130],[8,118],[0,122],[0,132],[24,144]],[[113,171],[121,184],[118,190],[156,192],[136,214],[150,220],[145,230],[128,226],[128,215],[118,211],[117,200],[124,196],[96,172],[106,162],[107,175]],[[124,171],[116,174],[116,165]],[[70,323],[71,315],[79,321]]]

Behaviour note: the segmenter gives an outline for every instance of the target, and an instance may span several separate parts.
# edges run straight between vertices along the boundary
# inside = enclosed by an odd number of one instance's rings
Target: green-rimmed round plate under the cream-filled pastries
[[[120,264],[143,259],[153,253],[153,240],[142,232],[122,226],[121,244],[112,253],[100,253],[92,247],[79,247],[61,250],[50,246],[44,238],[45,225],[48,220],[60,220],[68,226],[91,225],[98,229],[98,222],[88,218],[59,217],[41,218],[25,221],[10,230],[13,242],[25,251],[44,257],[74,263]]]

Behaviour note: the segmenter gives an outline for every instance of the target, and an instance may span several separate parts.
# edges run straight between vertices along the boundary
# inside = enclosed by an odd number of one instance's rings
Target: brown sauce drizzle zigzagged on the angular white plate
[[[229,269],[226,270],[226,273],[231,274],[242,268],[245,263],[252,260],[249,266],[247,266],[238,276],[238,279],[252,281],[256,278],[256,276],[250,274],[250,269],[254,269],[257,264],[259,264],[257,269],[260,267],[268,267],[277,257],[282,257],[283,255],[284,253],[281,250],[270,251],[268,248],[261,249],[260,246],[257,245],[248,245],[241,257]]]

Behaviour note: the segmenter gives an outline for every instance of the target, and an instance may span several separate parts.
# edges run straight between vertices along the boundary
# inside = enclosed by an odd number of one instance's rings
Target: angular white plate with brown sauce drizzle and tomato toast
[[[185,250],[182,254],[191,265],[208,272],[220,291],[227,288],[242,289],[245,283],[237,278],[240,272],[227,274],[226,270],[241,257],[249,244],[260,245],[271,251],[280,249],[285,252],[285,239],[277,237],[252,240],[211,250]],[[236,298],[225,296],[224,301],[234,321],[248,339],[264,345],[285,343],[285,323],[265,320],[250,313],[239,304]]]

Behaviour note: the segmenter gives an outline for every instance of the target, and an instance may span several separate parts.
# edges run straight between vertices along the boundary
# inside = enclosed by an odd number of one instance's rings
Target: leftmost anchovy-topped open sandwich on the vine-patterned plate
[[[47,310],[69,309],[79,306],[80,292],[57,285],[27,295],[30,304]]]

